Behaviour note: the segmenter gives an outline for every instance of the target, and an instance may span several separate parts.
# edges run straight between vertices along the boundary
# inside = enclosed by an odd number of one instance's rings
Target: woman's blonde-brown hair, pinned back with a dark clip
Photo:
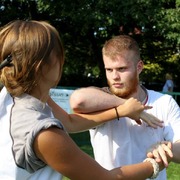
[[[60,61],[60,80],[64,49],[58,31],[45,21],[8,23],[0,29],[0,63],[9,55],[12,61],[0,70],[0,81],[13,96],[30,93],[40,78],[42,66],[51,63],[52,52]]]

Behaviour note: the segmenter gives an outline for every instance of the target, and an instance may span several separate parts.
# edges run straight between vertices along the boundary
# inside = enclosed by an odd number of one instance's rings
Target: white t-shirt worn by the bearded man
[[[113,120],[90,130],[95,159],[106,169],[142,162],[149,147],[160,141],[180,140],[180,108],[170,95],[148,90],[147,110],[164,121],[163,128],[154,129],[145,122],[138,125],[130,118]],[[166,170],[156,178],[165,180]]]

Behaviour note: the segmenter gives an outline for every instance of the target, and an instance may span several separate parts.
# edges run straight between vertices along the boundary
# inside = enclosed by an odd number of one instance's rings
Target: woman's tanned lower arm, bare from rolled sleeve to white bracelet
[[[144,180],[153,174],[150,162],[106,170],[81,151],[63,130],[55,127],[38,134],[34,150],[42,161],[73,180]],[[159,165],[162,169],[162,163]]]

